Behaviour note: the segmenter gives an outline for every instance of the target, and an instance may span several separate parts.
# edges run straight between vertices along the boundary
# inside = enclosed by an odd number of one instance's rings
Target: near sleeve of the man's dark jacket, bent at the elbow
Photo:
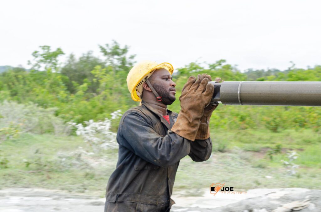
[[[121,124],[120,145],[154,165],[171,166],[190,153],[189,140],[170,130],[164,137],[159,135],[139,112],[130,112]]]

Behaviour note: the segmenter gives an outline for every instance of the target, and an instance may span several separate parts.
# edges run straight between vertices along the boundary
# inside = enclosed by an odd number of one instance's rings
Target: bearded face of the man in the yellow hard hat
[[[152,86],[161,96],[161,102],[165,105],[172,104],[176,100],[176,84],[172,79],[173,77],[166,69],[157,69],[152,76],[149,77]]]

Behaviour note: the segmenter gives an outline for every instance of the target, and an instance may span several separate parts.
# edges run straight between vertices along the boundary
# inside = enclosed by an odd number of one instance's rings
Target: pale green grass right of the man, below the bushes
[[[188,157],[180,162],[175,186],[177,189],[199,191],[211,183],[226,183],[235,190],[253,188],[303,187],[320,189],[321,137],[311,130],[233,130],[212,132],[213,146],[226,140],[224,153],[213,151],[209,160],[197,163]],[[308,145],[306,141],[310,140]],[[280,146],[281,145],[281,146]],[[299,165],[295,175],[282,166],[286,151],[299,154],[294,162]],[[273,151],[273,159],[269,155]],[[268,176],[268,177],[267,177]],[[195,180],[197,179],[197,180]]]

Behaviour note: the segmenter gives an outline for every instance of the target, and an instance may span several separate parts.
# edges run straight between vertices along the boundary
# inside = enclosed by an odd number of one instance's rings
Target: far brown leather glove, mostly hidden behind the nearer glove
[[[207,78],[208,81],[212,81],[212,78],[210,75],[202,74],[202,77]],[[220,82],[221,78],[217,77],[215,78],[215,81]],[[204,108],[204,113],[203,113],[203,116],[201,117],[200,126],[198,128],[195,139],[205,140],[210,137],[210,127],[209,127],[210,118],[212,116],[213,110],[215,110],[217,106],[218,104],[210,103]]]

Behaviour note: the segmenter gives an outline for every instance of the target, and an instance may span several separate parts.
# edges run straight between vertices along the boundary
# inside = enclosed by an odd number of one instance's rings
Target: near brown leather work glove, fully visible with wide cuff
[[[212,99],[214,86],[208,83],[208,78],[194,76],[188,78],[179,97],[181,110],[171,131],[190,141],[195,140],[204,114],[204,108]]]

